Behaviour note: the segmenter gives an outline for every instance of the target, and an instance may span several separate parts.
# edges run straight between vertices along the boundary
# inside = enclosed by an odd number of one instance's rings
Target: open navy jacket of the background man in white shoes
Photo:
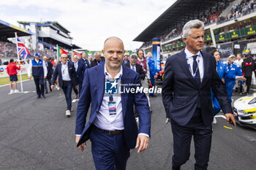
[[[78,85],[78,77],[75,73],[75,66],[73,63],[71,62],[67,62],[67,69],[69,70],[69,77],[70,80],[72,82],[73,86]],[[51,84],[54,85],[57,76],[59,76],[59,87],[63,88],[63,81],[62,81],[62,73],[61,73],[61,63],[58,63],[58,65],[56,66],[56,69],[53,73],[53,79]]]

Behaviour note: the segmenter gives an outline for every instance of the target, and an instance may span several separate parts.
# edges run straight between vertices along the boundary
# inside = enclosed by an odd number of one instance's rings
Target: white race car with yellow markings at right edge
[[[256,93],[238,98],[233,109],[236,123],[256,129]]]

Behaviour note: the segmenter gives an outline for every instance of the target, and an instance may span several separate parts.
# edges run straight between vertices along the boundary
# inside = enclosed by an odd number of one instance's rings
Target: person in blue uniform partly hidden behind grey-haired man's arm
[[[213,50],[213,51],[211,51],[210,54],[214,56],[214,58],[216,60],[216,69],[217,69],[217,72],[219,74],[219,78],[222,80],[222,82],[224,82],[223,77],[224,77],[225,65],[220,60],[220,53],[217,50]],[[221,107],[219,105],[219,101],[214,96],[214,93],[212,93],[212,90],[211,90],[211,101],[212,101],[212,104],[214,105],[213,109],[214,109],[214,116],[215,116],[220,112]],[[214,122],[213,123],[217,123],[217,120],[216,120],[215,117],[214,117]]]

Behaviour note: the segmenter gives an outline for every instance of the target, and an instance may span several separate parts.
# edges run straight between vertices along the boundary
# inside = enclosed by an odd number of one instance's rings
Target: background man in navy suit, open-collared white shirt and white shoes
[[[78,78],[75,73],[74,64],[67,62],[66,54],[61,54],[61,63],[59,63],[54,70],[53,79],[51,82],[52,85],[50,86],[52,90],[57,77],[59,77],[59,87],[62,88],[65,94],[67,101],[66,116],[69,117],[70,111],[72,110],[72,87],[78,88]]]

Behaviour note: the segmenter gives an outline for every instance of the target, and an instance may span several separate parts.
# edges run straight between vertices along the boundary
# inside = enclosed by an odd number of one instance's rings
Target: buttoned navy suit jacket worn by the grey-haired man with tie
[[[211,104],[211,89],[219,101],[223,112],[233,113],[227,91],[216,71],[215,58],[208,53],[203,55],[204,77],[200,87],[189,71],[184,50],[167,58],[165,76],[162,82],[162,101],[166,117],[178,123],[187,125],[195,113],[197,101],[200,100],[203,123],[210,126],[214,113]]]

